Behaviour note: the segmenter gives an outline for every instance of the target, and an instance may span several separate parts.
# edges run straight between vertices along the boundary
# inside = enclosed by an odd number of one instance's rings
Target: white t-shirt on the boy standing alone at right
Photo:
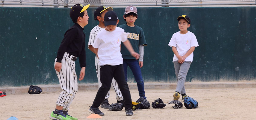
[[[172,39],[170,40],[168,46],[174,46],[176,47],[178,53],[180,56],[183,56],[185,55],[188,50],[191,48],[191,47],[197,47],[198,46],[198,43],[197,43],[197,40],[196,40],[196,36],[194,33],[192,32],[189,32],[186,33],[186,34],[180,34],[180,31],[179,32],[176,32],[172,35]],[[194,54],[193,52],[185,59],[185,61],[193,61],[193,57],[194,57]],[[177,56],[174,54],[173,56],[173,62],[174,61],[178,61],[178,58]]]

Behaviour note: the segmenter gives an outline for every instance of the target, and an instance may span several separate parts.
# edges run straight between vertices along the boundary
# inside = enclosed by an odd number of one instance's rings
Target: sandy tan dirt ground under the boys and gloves
[[[161,98],[164,103],[172,99],[174,90],[146,89],[147,100]],[[187,95],[196,99],[196,109],[173,109],[172,104],[164,109],[142,109],[133,111],[134,116],[125,116],[122,111],[108,111],[100,108],[105,116],[101,120],[254,120],[256,113],[256,88],[244,89],[187,89]],[[97,91],[78,91],[70,106],[69,114],[79,120],[90,115],[87,111]],[[7,95],[0,97],[1,120],[11,116],[19,120],[50,120],[49,116],[55,109],[55,102],[60,93],[43,93],[39,95]],[[138,90],[131,90],[132,101],[139,98]],[[114,90],[110,91],[109,103],[116,102]]]

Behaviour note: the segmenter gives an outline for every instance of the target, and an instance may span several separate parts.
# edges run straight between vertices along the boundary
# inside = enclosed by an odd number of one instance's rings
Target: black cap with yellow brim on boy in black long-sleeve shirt
[[[73,7],[71,7],[71,10],[69,12],[69,16],[74,22],[80,13],[84,12],[87,8],[89,8],[90,4],[83,6],[82,4],[75,4]]]

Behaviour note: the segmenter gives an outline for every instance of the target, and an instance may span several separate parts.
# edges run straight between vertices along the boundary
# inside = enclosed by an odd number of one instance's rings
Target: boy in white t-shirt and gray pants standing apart
[[[184,84],[188,69],[193,61],[193,52],[195,47],[198,46],[194,33],[187,30],[191,23],[190,18],[187,15],[182,15],[177,20],[179,21],[180,31],[172,35],[172,39],[168,44],[172,47],[174,53],[172,62],[177,78],[177,87],[173,95],[174,100],[179,100],[180,94],[182,99],[187,97]]]

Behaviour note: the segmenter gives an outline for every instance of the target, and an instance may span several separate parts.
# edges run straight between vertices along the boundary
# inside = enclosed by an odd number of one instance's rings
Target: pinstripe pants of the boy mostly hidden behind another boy
[[[99,82],[99,88],[100,88],[102,84],[101,84],[101,82],[100,82],[100,65],[99,65],[98,62],[99,62],[99,59],[98,59],[97,56],[95,55],[95,67],[96,67],[97,78],[98,78],[98,82]],[[115,80],[114,78],[112,79],[112,87],[114,88],[114,90],[115,90],[115,92],[116,92],[116,100],[117,100],[117,101],[123,100],[124,98],[123,98],[123,96],[122,96],[122,93],[121,93],[121,91],[120,91],[120,89],[119,89],[119,86],[118,86],[118,84],[117,84],[117,82],[116,82],[116,80]],[[105,96],[104,100],[105,100],[105,99],[108,99],[109,96],[110,96],[110,94],[109,94],[109,91],[108,91],[108,93],[107,93],[107,95]]]

